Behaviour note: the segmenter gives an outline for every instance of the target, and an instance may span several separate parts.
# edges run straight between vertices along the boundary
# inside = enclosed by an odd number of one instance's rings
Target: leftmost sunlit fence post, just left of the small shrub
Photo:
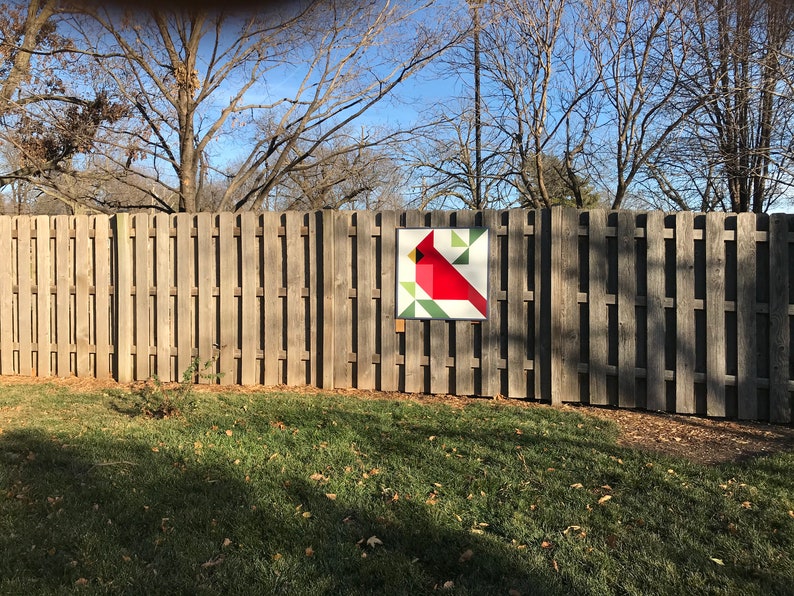
[[[132,239],[130,238],[130,216],[128,213],[117,213],[113,216],[113,241],[115,247],[113,257],[116,265],[116,275],[113,280],[116,319],[113,352],[116,361],[116,380],[119,383],[129,383],[132,381],[133,313]]]

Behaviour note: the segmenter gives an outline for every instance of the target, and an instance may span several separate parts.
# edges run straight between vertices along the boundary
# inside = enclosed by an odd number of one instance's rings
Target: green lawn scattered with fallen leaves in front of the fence
[[[136,399],[2,388],[0,593],[791,593],[790,453],[701,466],[504,402]]]

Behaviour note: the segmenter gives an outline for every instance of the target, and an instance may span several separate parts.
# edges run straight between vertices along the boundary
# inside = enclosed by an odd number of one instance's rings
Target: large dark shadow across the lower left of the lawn
[[[298,477],[263,497],[233,463],[98,431],[68,443],[8,431],[0,454],[3,593],[565,592],[551,570],[419,503],[380,519]]]

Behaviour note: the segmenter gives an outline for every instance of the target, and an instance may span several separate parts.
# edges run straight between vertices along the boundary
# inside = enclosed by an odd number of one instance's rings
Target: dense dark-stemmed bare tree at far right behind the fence
[[[709,100],[650,173],[678,208],[766,211],[794,185],[794,6],[697,0],[690,14],[694,76],[684,92]]]

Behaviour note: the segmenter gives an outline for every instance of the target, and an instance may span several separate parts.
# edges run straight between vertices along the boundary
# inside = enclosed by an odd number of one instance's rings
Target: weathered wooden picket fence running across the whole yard
[[[489,228],[488,320],[395,319],[398,227]],[[0,217],[0,373],[535,398],[790,423],[794,216]],[[202,379],[202,382],[217,382]]]

